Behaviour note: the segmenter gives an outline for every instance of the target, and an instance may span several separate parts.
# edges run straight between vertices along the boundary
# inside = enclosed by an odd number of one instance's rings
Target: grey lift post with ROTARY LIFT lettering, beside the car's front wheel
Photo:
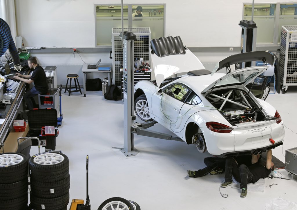
[[[134,134],[131,132],[131,125],[134,116],[134,70],[133,70],[133,51],[136,35],[132,32],[124,31],[123,37],[124,54],[124,155],[134,156],[138,151],[134,148]]]

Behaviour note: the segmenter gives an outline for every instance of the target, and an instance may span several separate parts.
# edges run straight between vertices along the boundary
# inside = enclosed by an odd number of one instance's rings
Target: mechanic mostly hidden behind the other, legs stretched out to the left
[[[257,155],[257,159],[261,159],[261,155]],[[252,165],[252,156],[251,155],[241,155],[236,156],[234,159],[237,161],[238,165],[245,164],[247,166]],[[197,178],[205,176],[206,174],[217,175],[225,171],[226,158],[225,157],[206,157],[203,162],[206,167],[199,170],[188,170],[188,176]]]

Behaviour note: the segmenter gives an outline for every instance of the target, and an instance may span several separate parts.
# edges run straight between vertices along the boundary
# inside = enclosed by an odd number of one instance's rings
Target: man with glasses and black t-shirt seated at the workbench
[[[34,70],[32,75],[22,75],[20,73],[16,73],[13,78],[28,84],[34,82],[34,87],[26,91],[24,94],[27,110],[31,110],[35,105],[33,97],[38,94],[46,94],[48,92],[48,79],[43,68],[37,63],[36,57],[30,57],[28,59],[28,66],[30,69]]]

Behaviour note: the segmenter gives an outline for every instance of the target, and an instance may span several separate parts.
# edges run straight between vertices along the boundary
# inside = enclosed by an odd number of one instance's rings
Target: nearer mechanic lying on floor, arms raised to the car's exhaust
[[[274,163],[272,160],[271,149],[267,150],[266,165],[260,165],[256,155],[252,155],[252,165],[249,167],[245,164],[238,165],[232,157],[226,158],[225,182],[221,187],[232,185],[232,175],[236,181],[240,183],[240,197],[247,196],[247,184],[256,183],[260,178],[264,178],[274,171]]]

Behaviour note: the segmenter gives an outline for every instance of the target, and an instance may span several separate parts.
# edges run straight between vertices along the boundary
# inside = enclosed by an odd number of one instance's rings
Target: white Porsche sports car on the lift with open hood
[[[173,47],[171,42],[175,42]],[[194,144],[198,151],[207,149],[218,157],[261,154],[282,145],[282,119],[263,100],[268,93],[260,94],[260,99],[252,93],[255,86],[264,84],[266,88],[263,78],[258,76],[268,67],[217,72],[223,67],[230,70],[231,64],[239,62],[262,60],[273,65],[273,55],[237,54],[224,59],[210,72],[182,45],[179,37],[152,40],[151,48],[156,81],[141,80],[135,85],[134,109],[141,120],[155,120],[187,144]],[[186,74],[167,78],[180,72]]]

